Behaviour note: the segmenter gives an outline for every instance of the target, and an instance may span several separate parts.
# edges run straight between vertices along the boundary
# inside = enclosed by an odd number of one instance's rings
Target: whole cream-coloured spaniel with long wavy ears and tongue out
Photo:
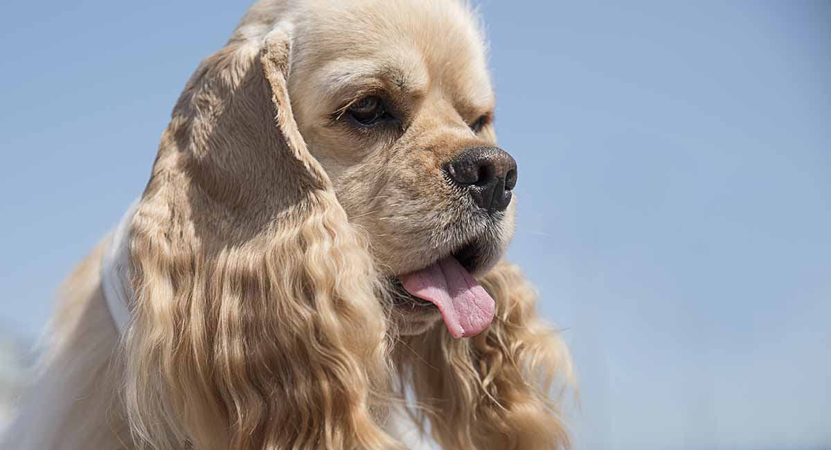
[[[62,289],[4,448],[568,448],[456,0],[262,0]]]

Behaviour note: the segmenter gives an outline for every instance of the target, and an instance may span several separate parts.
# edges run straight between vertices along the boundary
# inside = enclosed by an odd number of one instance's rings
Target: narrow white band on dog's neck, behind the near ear
[[[120,334],[130,324],[130,226],[139,206],[136,200],[127,209],[121,222],[112,232],[110,243],[101,259],[101,289],[104,291],[107,308]]]

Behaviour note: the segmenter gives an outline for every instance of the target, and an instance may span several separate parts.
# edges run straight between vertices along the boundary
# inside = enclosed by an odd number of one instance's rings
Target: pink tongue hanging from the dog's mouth
[[[478,335],[494,320],[494,299],[455,257],[400,277],[404,289],[439,307],[453,337]]]

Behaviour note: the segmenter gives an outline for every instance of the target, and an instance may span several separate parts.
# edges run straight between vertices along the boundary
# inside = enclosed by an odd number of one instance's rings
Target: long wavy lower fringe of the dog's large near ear
[[[387,448],[386,327],[330,193],[215,255],[140,213],[126,403],[154,448]],[[145,209],[145,208],[143,208]],[[150,209],[150,206],[146,207]],[[186,246],[186,247],[184,247]]]

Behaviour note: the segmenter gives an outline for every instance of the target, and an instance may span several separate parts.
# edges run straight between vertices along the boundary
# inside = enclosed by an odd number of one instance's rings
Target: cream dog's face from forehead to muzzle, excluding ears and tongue
[[[494,92],[455,2],[317,8],[297,36],[294,116],[386,276],[454,256],[475,276],[513,233],[517,169],[495,147]]]

